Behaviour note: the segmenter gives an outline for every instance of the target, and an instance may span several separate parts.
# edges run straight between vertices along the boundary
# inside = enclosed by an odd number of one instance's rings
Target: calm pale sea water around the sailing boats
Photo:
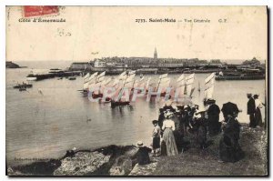
[[[151,144],[152,120],[158,118],[158,109],[164,102],[139,98],[130,106],[111,108],[82,96],[83,77],[76,80],[63,78],[33,82],[33,87],[19,92],[13,86],[25,81],[33,72],[45,73],[49,68],[65,68],[69,62],[22,62],[28,68],[6,69],[6,160],[9,165],[24,164],[22,160],[57,158],[66,150],[91,149],[99,146],[134,145],[142,140]],[[196,74],[196,90],[193,102],[202,104],[204,80],[209,74]],[[158,75],[152,76],[157,82]],[[179,75],[169,75],[175,85]],[[198,82],[201,91],[197,91]],[[241,123],[248,123],[247,93],[258,94],[265,102],[265,80],[216,81],[214,98],[221,108],[228,101],[242,110],[238,115]],[[261,109],[265,117],[265,107]],[[223,119],[222,114],[220,120]],[[27,159],[29,158],[29,159]],[[17,161],[21,159],[20,161]]]

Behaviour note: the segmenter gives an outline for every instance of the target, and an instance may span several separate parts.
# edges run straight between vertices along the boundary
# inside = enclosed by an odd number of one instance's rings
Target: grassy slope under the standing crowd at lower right
[[[240,145],[246,156],[236,163],[218,162],[219,136],[213,144],[201,150],[195,143],[178,156],[164,156],[157,165],[156,176],[267,176],[268,141],[262,129],[249,130],[244,126]],[[187,137],[189,138],[189,137]],[[190,140],[193,137],[191,137]]]

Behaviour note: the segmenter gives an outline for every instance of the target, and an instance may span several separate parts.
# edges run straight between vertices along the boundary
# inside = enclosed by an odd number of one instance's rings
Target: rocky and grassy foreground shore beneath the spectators
[[[186,137],[187,139],[188,137]],[[190,147],[178,156],[151,156],[151,164],[138,166],[132,157],[136,146],[105,146],[95,150],[78,150],[47,162],[7,168],[8,176],[267,176],[268,135],[263,128],[243,125],[240,145],[246,157],[237,163],[218,160],[215,136],[205,150],[191,140]]]

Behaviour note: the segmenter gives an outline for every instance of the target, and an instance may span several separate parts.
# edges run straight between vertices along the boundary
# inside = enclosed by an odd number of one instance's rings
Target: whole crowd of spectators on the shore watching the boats
[[[261,126],[260,107],[263,104],[258,100],[258,95],[252,97],[248,94],[248,98],[249,127]],[[183,153],[190,144],[184,139],[186,136],[195,139],[194,143],[200,149],[206,149],[209,146],[207,136],[213,140],[213,137],[222,133],[218,143],[219,161],[234,163],[242,159],[245,154],[239,145],[241,125],[238,122],[238,106],[227,102],[220,110],[216,100],[207,99],[204,100],[204,107],[173,106],[172,101],[167,100],[159,109],[158,120],[152,121],[154,129],[150,151],[153,156],[176,156]],[[223,122],[219,122],[220,112],[224,117]],[[141,141],[137,142],[137,146],[140,152],[138,163],[148,164],[149,149]]]

